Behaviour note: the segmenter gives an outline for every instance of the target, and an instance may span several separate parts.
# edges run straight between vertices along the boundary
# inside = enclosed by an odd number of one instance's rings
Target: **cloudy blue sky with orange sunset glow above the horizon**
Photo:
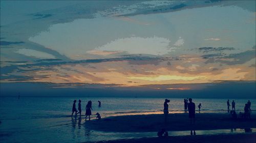
[[[1,1],[1,88],[253,85],[255,17],[255,1]]]

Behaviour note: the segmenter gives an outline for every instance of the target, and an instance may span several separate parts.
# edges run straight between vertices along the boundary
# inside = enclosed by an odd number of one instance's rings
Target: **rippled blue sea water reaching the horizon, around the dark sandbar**
[[[71,119],[73,100],[80,99],[82,115],[86,103],[92,101],[91,119],[99,112],[105,118],[120,115],[162,113],[164,98],[114,98],[114,97],[0,97],[1,142],[90,142],[152,134],[99,132],[86,128],[84,117]],[[98,100],[101,107],[98,107]],[[229,99],[230,104],[233,99]],[[236,110],[243,111],[248,99],[234,99]],[[193,99],[202,104],[201,112],[226,113],[227,99]],[[250,99],[251,109],[256,109],[256,99]],[[78,103],[77,103],[78,106]],[[170,98],[170,113],[183,112],[183,99]],[[230,107],[231,109],[231,107]]]

